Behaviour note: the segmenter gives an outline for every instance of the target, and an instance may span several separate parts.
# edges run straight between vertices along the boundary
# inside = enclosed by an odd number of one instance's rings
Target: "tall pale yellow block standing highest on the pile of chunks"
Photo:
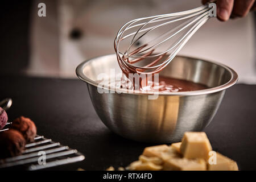
[[[185,132],[180,151],[184,158],[202,158],[208,160],[209,152],[212,150],[209,139],[204,132]]]

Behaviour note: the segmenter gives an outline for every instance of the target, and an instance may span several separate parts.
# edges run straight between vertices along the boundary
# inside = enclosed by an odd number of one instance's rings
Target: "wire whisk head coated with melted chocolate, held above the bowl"
[[[138,18],[124,24],[114,41],[123,73],[154,74],[164,69],[209,19],[208,5],[179,13]],[[143,42],[143,44],[141,43]]]

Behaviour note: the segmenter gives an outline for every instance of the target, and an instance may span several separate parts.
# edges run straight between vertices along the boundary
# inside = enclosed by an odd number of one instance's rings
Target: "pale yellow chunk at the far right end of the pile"
[[[234,160],[218,152],[215,152],[215,155],[212,157],[212,160],[210,158],[207,164],[209,171],[238,171],[237,163]]]

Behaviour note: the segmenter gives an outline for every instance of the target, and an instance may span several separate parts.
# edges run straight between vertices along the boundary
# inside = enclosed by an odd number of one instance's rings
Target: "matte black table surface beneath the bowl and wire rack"
[[[152,145],[112,133],[94,111],[86,84],[78,79],[1,76],[0,81],[0,100],[13,99],[7,111],[10,121],[20,115],[29,117],[38,134],[85,155],[82,162],[49,169],[125,167]],[[229,88],[204,131],[213,150],[236,160],[241,170],[255,170],[256,85]]]

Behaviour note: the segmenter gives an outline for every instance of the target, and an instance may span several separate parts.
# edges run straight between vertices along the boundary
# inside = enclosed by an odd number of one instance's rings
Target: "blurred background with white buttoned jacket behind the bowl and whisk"
[[[46,4],[46,17],[38,4]],[[1,1],[0,75],[75,78],[75,68],[114,53],[119,28],[131,19],[201,6],[201,0]],[[256,15],[211,18],[179,53],[232,67],[240,82],[256,84]]]

